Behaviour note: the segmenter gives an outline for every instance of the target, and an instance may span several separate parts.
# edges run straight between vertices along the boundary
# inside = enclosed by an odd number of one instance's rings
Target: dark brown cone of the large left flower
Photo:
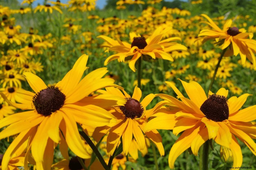
[[[33,104],[36,107],[37,113],[49,116],[64,105],[65,99],[65,94],[60,92],[58,87],[52,86],[36,93],[33,97]]]

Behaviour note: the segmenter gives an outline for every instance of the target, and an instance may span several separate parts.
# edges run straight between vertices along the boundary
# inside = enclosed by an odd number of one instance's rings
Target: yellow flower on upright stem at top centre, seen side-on
[[[161,58],[164,60],[173,61],[173,58],[168,53],[175,50],[187,50],[187,48],[181,44],[171,42],[181,40],[179,37],[172,37],[162,40],[165,33],[169,29],[163,29],[159,27],[156,31],[149,37],[147,40],[140,35],[135,33],[130,33],[130,40],[132,44],[127,42],[122,42],[120,40],[113,40],[107,36],[100,35],[98,38],[101,38],[107,42],[106,45],[102,47],[108,47],[107,51],[116,51],[117,54],[109,56],[104,65],[107,65],[110,61],[118,59],[119,62],[124,62],[127,57],[131,58],[129,61],[129,67],[132,71],[135,72],[135,63],[141,57],[141,55],[149,55],[153,59]],[[162,40],[162,41],[161,41]]]

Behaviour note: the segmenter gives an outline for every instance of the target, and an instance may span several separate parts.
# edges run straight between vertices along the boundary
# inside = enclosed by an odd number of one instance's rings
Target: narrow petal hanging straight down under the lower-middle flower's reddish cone
[[[132,142],[132,119],[128,118],[127,119],[127,127],[124,129],[124,133],[122,135],[122,141],[123,141],[123,152],[125,155],[128,154],[130,144]]]

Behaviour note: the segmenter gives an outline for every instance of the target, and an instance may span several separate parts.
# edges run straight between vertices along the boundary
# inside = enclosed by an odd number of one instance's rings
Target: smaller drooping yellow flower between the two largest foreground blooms
[[[162,138],[157,130],[144,132],[142,129],[147,123],[148,116],[154,113],[156,108],[146,111],[146,107],[155,97],[154,94],[147,95],[141,102],[142,92],[137,86],[134,88],[132,97],[123,90],[124,94],[117,88],[107,87],[106,91],[99,90],[102,94],[114,94],[126,100],[124,106],[115,106],[108,110],[116,117],[116,122],[104,127],[98,127],[93,133],[96,141],[108,133],[107,137],[107,152],[113,155],[116,147],[120,144],[122,137],[123,153],[128,154],[131,146],[132,138],[134,137],[140,150],[146,147],[145,136],[149,138],[158,148],[160,155],[164,155]],[[144,136],[145,135],[145,136]]]

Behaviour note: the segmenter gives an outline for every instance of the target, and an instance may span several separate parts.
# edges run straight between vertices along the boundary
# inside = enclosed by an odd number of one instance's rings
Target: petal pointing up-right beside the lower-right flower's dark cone
[[[233,96],[228,99],[229,117],[244,105],[248,96],[251,96],[251,94],[246,93],[238,98]]]

